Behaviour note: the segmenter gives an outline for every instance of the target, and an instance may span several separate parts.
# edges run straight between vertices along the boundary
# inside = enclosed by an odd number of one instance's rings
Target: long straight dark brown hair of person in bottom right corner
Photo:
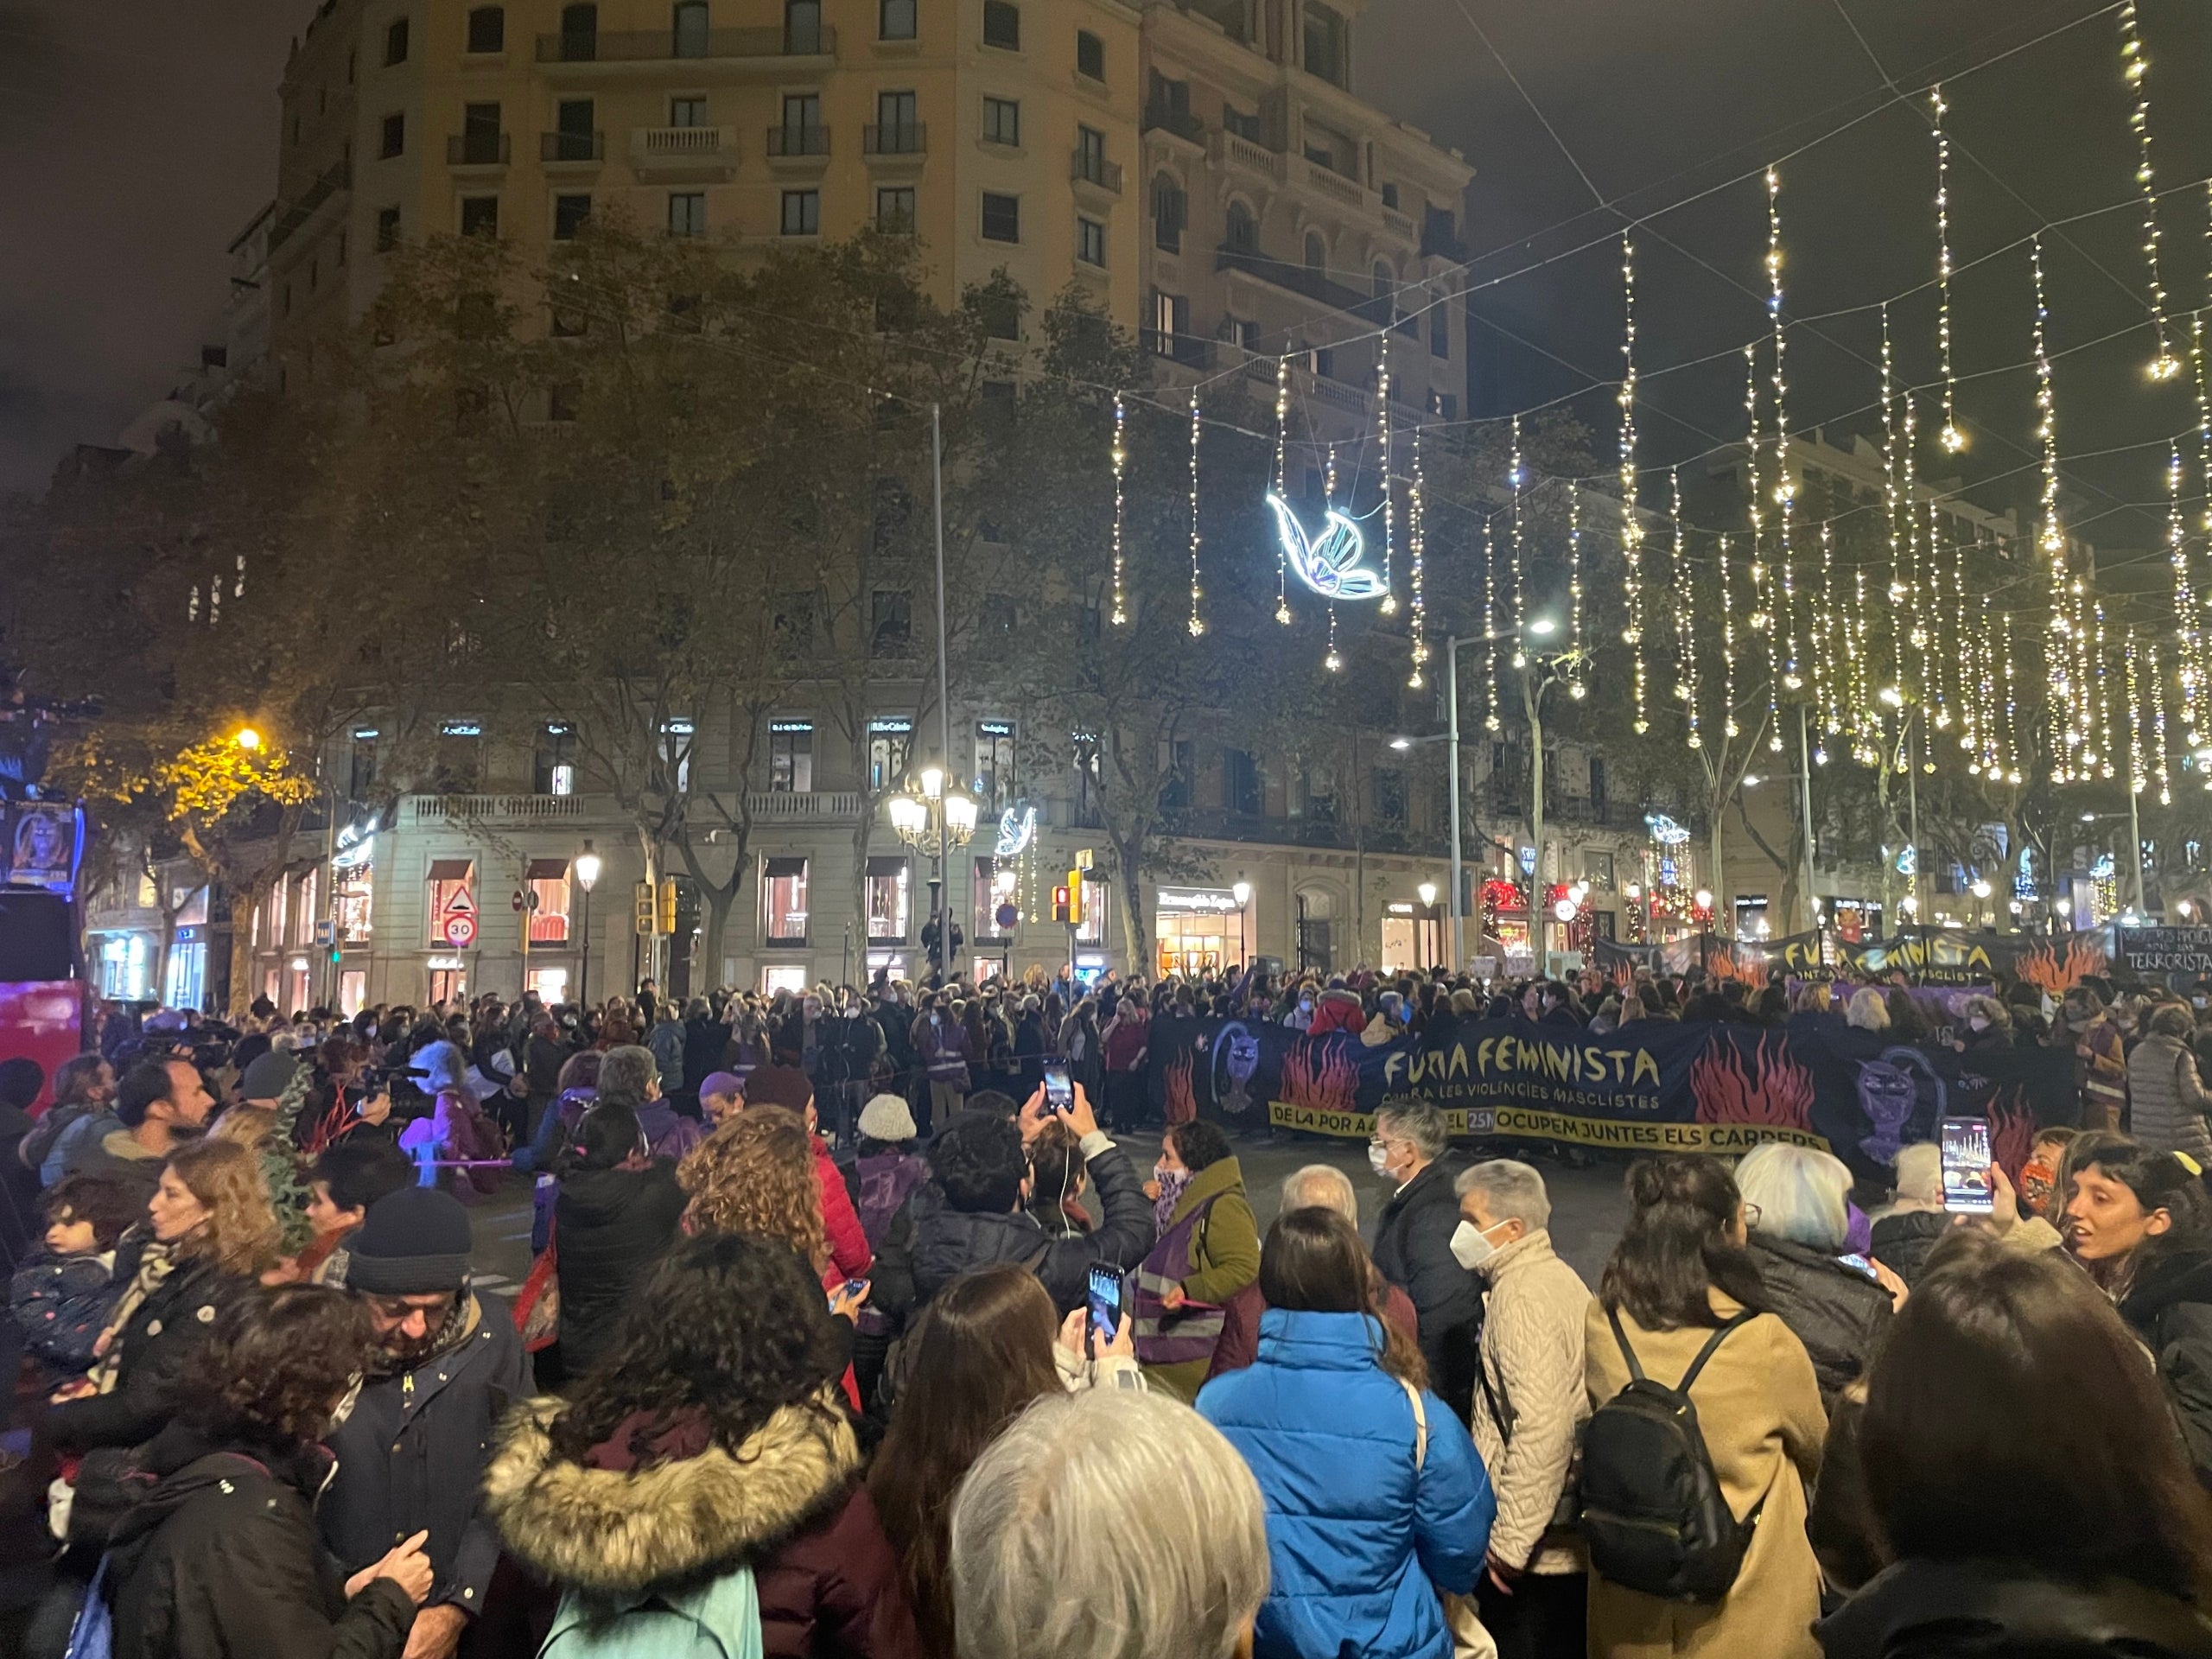
[[[1858,1455],[1891,1559],[2212,1595],[2212,1498],[2159,1380],[2055,1254],[1947,1248],[1874,1365]]]

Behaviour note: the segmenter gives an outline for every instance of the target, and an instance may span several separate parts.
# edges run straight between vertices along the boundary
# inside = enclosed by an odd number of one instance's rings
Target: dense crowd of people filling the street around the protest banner
[[[115,1013],[51,1091],[0,1060],[20,1648],[2212,1659],[2203,1000],[1938,1026],[1885,987],[1228,973]],[[1639,1161],[1593,1292],[1542,1170],[1420,1099],[1365,1179],[1279,1194],[1148,1102],[1155,1018],[1515,1009],[2070,1046],[2079,1121],[1986,1170],[1989,1214],[1931,1146],[1880,1188],[1796,1144]],[[507,1298],[471,1208],[524,1190]]]

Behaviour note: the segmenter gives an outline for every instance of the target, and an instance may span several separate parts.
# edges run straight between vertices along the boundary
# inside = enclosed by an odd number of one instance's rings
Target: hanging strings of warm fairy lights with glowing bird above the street
[[[1938,754],[1955,754],[1971,776],[2020,785],[2035,770],[2033,748],[2042,745],[2055,783],[2112,781],[2126,774],[2135,792],[2154,790],[2170,801],[2174,763],[2212,776],[2212,365],[2208,365],[2208,310],[2177,314],[2161,274],[2159,190],[2152,166],[2150,75],[2135,0],[2117,7],[2119,64],[2132,97],[2130,131],[2137,146],[2137,195],[2143,223],[2146,314],[2157,341],[2148,380],[2168,383],[2188,372],[2194,396],[2194,445],[2188,429],[2166,445],[2166,540],[2172,568],[2174,619],[2157,624],[2130,619],[2099,591],[2095,553],[2075,540],[2062,500],[2059,407],[2053,352],[2053,310],[2044,232],[2013,243],[2026,252],[2033,312],[2031,343],[2037,504],[2026,549],[2028,573],[2013,564],[1993,533],[1995,520],[1947,498],[1938,469],[1922,465],[1922,442],[1936,456],[1958,456],[1969,447],[1960,374],[1955,365],[1953,195],[1951,195],[1951,104],[1942,84],[1927,88],[1927,119],[1933,139],[1933,383],[1907,385],[1900,374],[1900,341],[1891,303],[1865,310],[1880,314],[1880,491],[1867,507],[1851,500],[1851,487],[1829,478],[1823,498],[1807,495],[1807,467],[1794,449],[1801,440],[1790,425],[1790,314],[1785,285],[1783,168],[1763,168],[1765,188],[1765,327],[1741,347],[1745,392],[1745,436],[1736,478],[1743,491],[1743,524],[1712,535],[1683,518],[1681,467],[1668,471],[1668,540],[1655,540],[1641,504],[1639,462],[1639,288],[1637,230],[1619,234],[1621,257],[1621,374],[1617,403],[1617,549],[1621,624],[1610,633],[1593,599],[1610,602],[1610,584],[1588,586],[1584,480],[1573,476],[1537,482],[1528,465],[1524,414],[1509,416],[1509,465],[1500,498],[1469,511],[1478,524],[1478,588],[1482,608],[1482,697],[1484,730],[1502,728],[1515,675],[1542,655],[1555,679],[1575,699],[1590,690],[1597,644],[1617,637],[1626,646],[1626,690],[1630,726],[1646,734],[1655,723],[1652,684],[1670,690],[1681,717],[1681,739],[1692,750],[1745,737],[1765,739],[1770,752],[1785,748],[1785,706],[1803,706],[1807,732],[1816,734],[1816,765],[1836,745],[1869,768],[1916,765],[1938,770]],[[2212,307],[2212,179],[2205,181],[2205,307]],[[1969,261],[1986,263],[1989,257]],[[1922,283],[1922,290],[1929,283]],[[1920,290],[1916,290],[1920,292]],[[2183,323],[2185,316],[2185,323]],[[1274,361],[1274,453],[1272,484],[1283,526],[1276,551],[1276,622],[1294,617],[1292,588],[1312,588],[1327,611],[1323,668],[1345,666],[1340,608],[1376,602],[1376,613],[1400,613],[1400,577],[1407,591],[1409,677],[1407,688],[1427,686],[1429,606],[1438,568],[1429,560],[1429,478],[1425,442],[1431,425],[1400,422],[1391,336],[1400,319],[1374,334],[1371,429],[1378,453],[1374,484],[1354,473],[1358,495],[1374,511],[1356,515],[1340,491],[1338,445],[1314,431],[1325,447],[1321,473],[1323,531],[1314,535],[1290,507],[1292,363]],[[2079,349],[2079,347],[2073,347]],[[1986,374],[1986,372],[1984,372]],[[1975,378],[1975,376],[1969,376]],[[1927,403],[1927,420],[1922,418]],[[1201,637],[1203,549],[1201,538],[1201,429],[1199,389],[1190,389],[1190,608],[1188,633]],[[1314,422],[1310,422],[1314,425]],[[1411,431],[1405,427],[1411,425]],[[2190,453],[2194,449],[2194,456]],[[1128,462],[1126,409],[1115,396],[1113,469],[1113,619],[1130,619],[1126,599],[1124,469]],[[2203,513],[2192,524],[2192,462]],[[1832,469],[1834,471],[1834,469]],[[1312,473],[1307,473],[1312,478]],[[1818,484],[1818,480],[1814,480]],[[1564,538],[1557,522],[1537,533],[1533,500],[1540,489],[1564,495]],[[1312,489],[1312,484],[1307,484]],[[1453,502],[1447,502],[1453,504]],[[1467,507],[1460,502],[1460,507]],[[1307,507],[1307,513],[1312,507]],[[1847,540],[1845,520],[1874,518],[1871,538]],[[1502,522],[1500,522],[1502,520]],[[1608,515],[1610,520],[1610,515]],[[1363,529],[1365,526],[1365,529]],[[1378,546],[1365,535],[1378,529]],[[1400,535],[1405,546],[1400,546]],[[1557,555],[1544,551],[1557,546]],[[1646,564],[1646,553],[1652,560]],[[1378,571],[1365,564],[1376,557]],[[1553,562],[1557,557],[1557,564]],[[1564,566],[1564,571],[1562,571]],[[1705,568],[1710,566],[1710,577]],[[1298,575],[1298,584],[1290,577]],[[1544,617],[1564,577],[1564,617]],[[1739,602],[1743,604],[1739,613]],[[1542,650],[1531,630],[1546,637]],[[1672,646],[1672,670],[1663,653]],[[1661,653],[1655,657],[1655,653]],[[1717,657],[1717,664],[1703,661]],[[2039,684],[2035,675],[2042,675]],[[2022,690],[2033,684],[2031,703]],[[1719,701],[1712,701],[1712,692]],[[1509,695],[1513,692],[1513,695]],[[1661,703],[1663,706],[1663,703]],[[1747,717],[1756,712],[1756,723]],[[1907,741],[1918,721],[1918,734]],[[2042,721],[2028,730],[2031,721]],[[2181,757],[2174,739],[2183,739]],[[2212,783],[2205,783],[2212,787]]]

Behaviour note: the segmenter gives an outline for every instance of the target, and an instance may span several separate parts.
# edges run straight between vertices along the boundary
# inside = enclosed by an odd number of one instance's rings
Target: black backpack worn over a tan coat
[[[1730,1513],[1712,1453],[1697,1427],[1690,1385],[1743,1312],[1712,1334],[1677,1387],[1652,1383],[1610,1312],[1628,1360],[1628,1387],[1590,1413],[1582,1444],[1582,1535],[1590,1566],[1608,1582],[1666,1601],[1719,1601],[1743,1571],[1761,1500],[1741,1522]]]

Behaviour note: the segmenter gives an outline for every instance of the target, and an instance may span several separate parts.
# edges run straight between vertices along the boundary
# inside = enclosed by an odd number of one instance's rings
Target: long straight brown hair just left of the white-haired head
[[[907,1597],[929,1655],[953,1652],[947,1575],[960,1478],[1022,1407],[1060,1391],[1053,1298],[1024,1267],[962,1274],[940,1290],[907,1338],[914,1363],[867,1491],[907,1573]]]

